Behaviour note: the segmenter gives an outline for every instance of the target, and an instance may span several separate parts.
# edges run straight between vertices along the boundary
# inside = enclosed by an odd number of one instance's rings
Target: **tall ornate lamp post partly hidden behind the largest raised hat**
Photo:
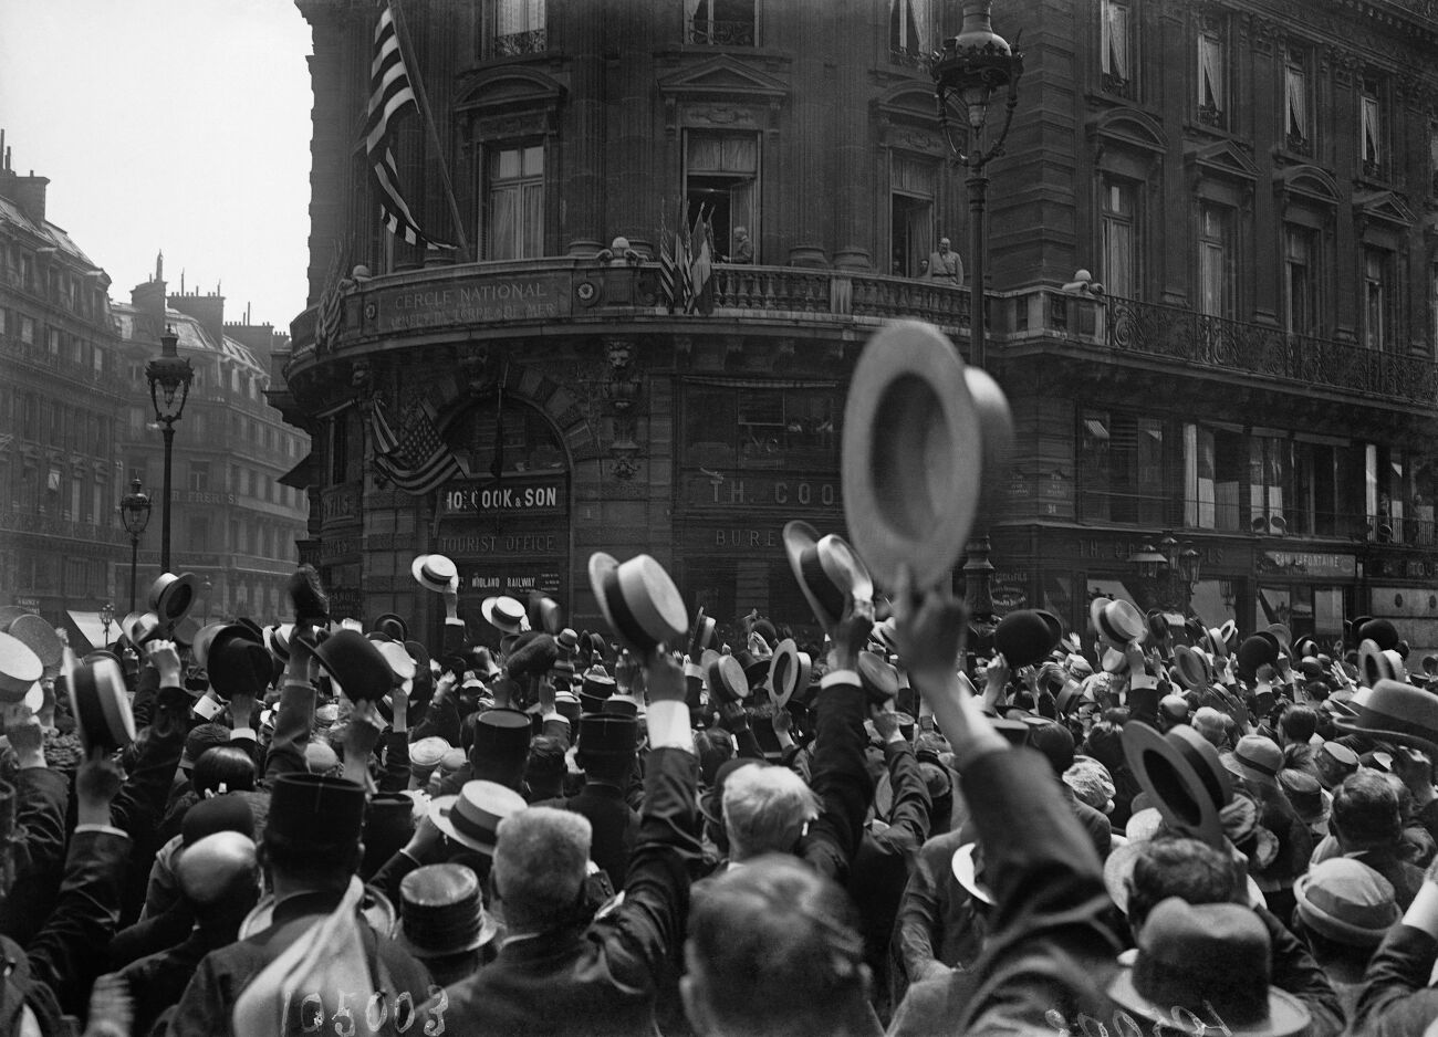
[[[992,0],[965,0],[959,34],[943,42],[943,50],[935,55],[933,62],[939,125],[955,165],[969,171],[963,181],[969,194],[969,362],[981,369],[988,359],[984,327],[986,167],[989,159],[1004,154],[1004,139],[1018,106],[1018,80],[1024,75],[1024,55],[994,32],[989,20],[992,6]],[[998,90],[1007,90],[1004,125],[992,144],[985,145],[988,109]],[[951,116],[963,126],[958,135]],[[994,566],[989,563],[988,533],[976,529],[963,553],[963,599],[969,615],[991,616]]]

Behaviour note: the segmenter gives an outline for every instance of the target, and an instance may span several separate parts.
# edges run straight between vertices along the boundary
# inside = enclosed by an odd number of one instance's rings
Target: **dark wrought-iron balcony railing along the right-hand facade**
[[[1438,365],[1422,356],[1363,349],[1132,299],[1110,297],[1107,307],[1107,343],[1119,352],[1438,405]]]

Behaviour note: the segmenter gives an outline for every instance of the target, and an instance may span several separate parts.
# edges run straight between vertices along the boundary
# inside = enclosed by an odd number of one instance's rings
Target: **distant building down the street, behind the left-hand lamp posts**
[[[286,427],[266,402],[269,355],[286,348],[270,325],[226,323],[224,296],[165,294],[164,267],[114,303],[121,338],[119,381],[127,406],[118,457],[125,484],[138,477],[154,500],[139,552],[141,586],[160,563],[164,440],[152,428],[145,363],[168,326],[194,368],[184,415],[175,422],[170,566],[201,580],[196,618],[283,612],[285,579],[305,534],[308,501],[280,478],[309,454],[309,438]],[[125,562],[128,579],[128,557]]]

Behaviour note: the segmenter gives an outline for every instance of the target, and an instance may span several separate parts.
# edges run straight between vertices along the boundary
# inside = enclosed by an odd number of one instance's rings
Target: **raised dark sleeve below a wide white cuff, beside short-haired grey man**
[[[680,748],[649,754],[644,813],[630,855],[624,899],[592,924],[618,954],[651,981],[666,959],[679,954],[689,916],[689,873],[699,860],[699,760]],[[613,961],[621,974],[624,962]]]

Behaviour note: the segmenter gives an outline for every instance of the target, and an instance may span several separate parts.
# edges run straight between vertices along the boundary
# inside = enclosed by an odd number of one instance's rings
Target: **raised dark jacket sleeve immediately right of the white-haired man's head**
[[[811,764],[820,816],[810,826],[804,859],[840,885],[848,880],[848,863],[858,852],[873,796],[864,768],[864,689],[847,682],[821,688]]]

